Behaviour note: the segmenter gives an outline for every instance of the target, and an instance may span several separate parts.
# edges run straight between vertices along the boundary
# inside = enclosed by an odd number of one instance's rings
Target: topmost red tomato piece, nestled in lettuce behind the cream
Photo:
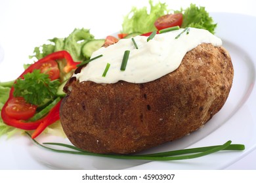
[[[168,27],[174,27],[177,25],[181,27],[182,20],[182,13],[165,14],[163,16],[160,16],[160,18],[156,20],[154,25],[158,30]]]

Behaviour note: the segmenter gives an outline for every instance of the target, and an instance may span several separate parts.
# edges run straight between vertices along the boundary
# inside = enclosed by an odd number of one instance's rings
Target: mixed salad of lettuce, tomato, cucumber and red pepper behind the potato
[[[149,13],[146,7],[133,7],[124,17],[122,29],[116,37],[108,35],[105,39],[95,39],[89,29],[81,28],[74,29],[65,38],[54,37],[49,39],[49,44],[35,47],[29,58],[37,61],[24,64],[24,72],[16,80],[0,83],[0,136],[11,137],[24,132],[32,139],[41,133],[64,135],[59,122],[60,103],[65,96],[62,88],[77,65],[90,59],[101,46],[136,35],[149,36],[154,31],[176,26],[196,27],[215,33],[217,24],[204,7],[191,4],[186,9],[170,10],[165,3],[153,5],[150,0],[149,4]],[[208,148],[207,153],[200,153],[203,156],[218,150],[243,149],[230,146],[230,143],[228,141],[223,146]]]

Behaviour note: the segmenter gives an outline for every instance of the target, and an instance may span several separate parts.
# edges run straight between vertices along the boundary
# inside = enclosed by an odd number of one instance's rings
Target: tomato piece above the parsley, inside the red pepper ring
[[[56,80],[60,77],[60,70],[58,69],[58,63],[54,60],[37,65],[34,69],[40,69],[41,73],[49,75],[51,80]]]

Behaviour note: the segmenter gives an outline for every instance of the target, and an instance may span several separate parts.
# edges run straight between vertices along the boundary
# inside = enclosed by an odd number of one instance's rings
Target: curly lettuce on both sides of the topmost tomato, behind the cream
[[[123,18],[121,33],[148,33],[156,31],[154,22],[160,16],[165,14],[173,14],[181,12],[183,14],[183,22],[181,28],[196,27],[200,29],[207,29],[214,33],[217,24],[213,22],[205,7],[197,7],[190,4],[190,7],[181,10],[169,10],[165,3],[157,3],[153,5],[152,0],[150,3],[150,13],[148,14],[147,7],[137,8],[133,7],[131,11]]]

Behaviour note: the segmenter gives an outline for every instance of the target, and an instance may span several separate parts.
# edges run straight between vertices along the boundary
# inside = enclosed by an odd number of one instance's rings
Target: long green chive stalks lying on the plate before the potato
[[[30,133],[26,132],[26,134],[31,137]],[[160,152],[155,154],[142,154],[142,155],[114,155],[114,154],[97,154],[93,152],[87,152],[85,150],[81,150],[75,146],[70,144],[56,143],[56,142],[44,142],[40,144],[39,142],[32,139],[35,144],[51,150],[53,152],[66,153],[66,154],[80,154],[85,156],[100,156],[105,158],[115,158],[115,159],[139,159],[139,160],[153,160],[153,161],[173,161],[173,160],[181,160],[181,159],[193,159],[200,158],[202,156],[207,156],[209,154],[213,154],[215,152],[219,152],[221,150],[244,150],[244,144],[231,144],[231,141],[227,141],[219,146],[205,146],[200,148],[189,148],[184,150],[173,150],[168,152]],[[60,150],[54,149],[47,145],[53,146],[62,146],[64,148],[70,148],[71,150]]]

